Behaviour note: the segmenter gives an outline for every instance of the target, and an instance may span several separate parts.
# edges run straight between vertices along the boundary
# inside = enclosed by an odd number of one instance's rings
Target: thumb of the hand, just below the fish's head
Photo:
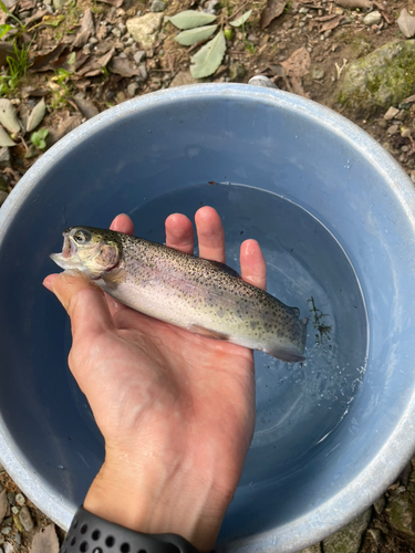
[[[71,269],[49,275],[43,285],[55,294],[71,317],[74,340],[114,326],[104,291],[81,271]]]

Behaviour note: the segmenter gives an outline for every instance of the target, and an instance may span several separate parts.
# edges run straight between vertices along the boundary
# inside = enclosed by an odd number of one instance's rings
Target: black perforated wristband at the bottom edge
[[[80,507],[61,553],[199,553],[177,534],[143,534]]]

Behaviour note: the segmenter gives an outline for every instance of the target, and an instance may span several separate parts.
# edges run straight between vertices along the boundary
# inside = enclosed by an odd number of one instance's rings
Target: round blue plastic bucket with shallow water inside
[[[269,291],[309,316],[307,362],[256,353],[257,426],[218,551],[294,552],[367,508],[414,451],[415,196],[357,126],[245,84],[148,94],[46,152],[0,210],[0,459],[66,529],[104,455],[42,279],[61,232],[129,213],[222,217],[228,264],[255,238]]]

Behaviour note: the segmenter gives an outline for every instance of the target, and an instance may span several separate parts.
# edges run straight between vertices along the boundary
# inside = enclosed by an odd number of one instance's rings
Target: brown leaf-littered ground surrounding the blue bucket
[[[280,88],[305,95],[354,121],[394,155],[415,180],[411,105],[406,111],[393,106],[396,113],[392,122],[384,118],[390,106],[356,116],[339,104],[338,95],[350,63],[386,42],[405,40],[396,20],[403,8],[412,12],[415,0],[338,1],[166,0],[165,6],[158,3],[158,12],[154,2],[145,0],[9,0],[9,10],[22,24],[1,13],[0,24],[14,25],[14,30],[9,30],[0,43],[0,92],[11,101],[23,129],[12,133],[6,124],[15,146],[7,147],[0,140],[0,146],[4,146],[0,150],[0,205],[42,152],[85,118],[147,92],[198,82],[189,65],[190,56],[201,44],[179,45],[174,40],[178,30],[166,17],[185,9],[208,9],[227,30],[222,62],[215,74],[201,81],[248,82],[253,75],[267,75]],[[367,2],[371,8],[363,7]],[[359,4],[361,8],[356,9]],[[252,13],[242,27],[229,25],[249,9]],[[363,19],[370,11],[380,11],[381,18],[365,24]],[[266,21],[271,12],[277,17]],[[127,21],[147,13],[154,14],[155,32],[143,48],[129,34]],[[1,29],[6,28],[0,27],[0,32]],[[4,52],[10,54],[8,44],[13,42],[19,63],[9,66]],[[33,137],[32,131],[25,129],[40,98],[44,98],[45,109],[38,108],[40,121],[33,127],[38,133]],[[43,132],[44,143],[40,128],[48,129]],[[0,467],[0,522],[2,488],[7,492],[19,491]],[[7,543],[12,544],[15,553],[29,552],[33,535],[50,521],[25,500],[33,521],[33,529],[25,530],[19,520],[21,505],[13,505],[13,495],[6,497],[8,511],[0,524],[0,553],[2,547],[10,553]],[[415,474],[409,463],[398,482],[354,526],[308,551],[409,553],[415,551],[414,514]],[[63,532],[56,531],[62,541]],[[347,535],[352,535],[353,543]],[[51,542],[50,551],[43,553],[52,553],[55,547]]]

